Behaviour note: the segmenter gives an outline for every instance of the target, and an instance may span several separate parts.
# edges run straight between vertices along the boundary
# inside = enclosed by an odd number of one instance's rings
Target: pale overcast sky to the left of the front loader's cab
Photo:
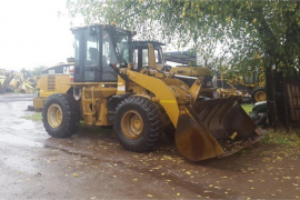
[[[0,0],[0,69],[33,69],[66,62],[73,37],[66,0]]]

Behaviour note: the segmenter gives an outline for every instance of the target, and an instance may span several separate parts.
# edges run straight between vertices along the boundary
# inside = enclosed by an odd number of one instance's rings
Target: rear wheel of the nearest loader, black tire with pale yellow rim
[[[79,127],[79,104],[72,96],[68,93],[51,94],[47,98],[42,109],[43,127],[51,137],[71,137]]]

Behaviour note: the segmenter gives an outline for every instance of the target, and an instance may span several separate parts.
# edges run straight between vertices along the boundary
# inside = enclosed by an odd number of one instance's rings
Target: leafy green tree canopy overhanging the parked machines
[[[87,24],[116,21],[141,32],[140,38],[193,47],[202,54],[212,54],[221,44],[216,67],[229,58],[234,69],[299,67],[297,0],[68,0],[67,7]]]

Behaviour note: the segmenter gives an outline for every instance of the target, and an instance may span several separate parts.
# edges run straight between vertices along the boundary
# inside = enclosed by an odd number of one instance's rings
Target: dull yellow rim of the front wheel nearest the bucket
[[[127,111],[121,119],[121,128],[126,138],[137,140],[142,136],[142,117],[134,110]]]

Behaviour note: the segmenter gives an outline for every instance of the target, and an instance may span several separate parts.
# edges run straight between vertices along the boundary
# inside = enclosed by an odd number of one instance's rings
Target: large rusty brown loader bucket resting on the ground
[[[178,120],[176,143],[189,160],[229,156],[259,139],[237,98],[198,101],[186,106],[186,112]]]

